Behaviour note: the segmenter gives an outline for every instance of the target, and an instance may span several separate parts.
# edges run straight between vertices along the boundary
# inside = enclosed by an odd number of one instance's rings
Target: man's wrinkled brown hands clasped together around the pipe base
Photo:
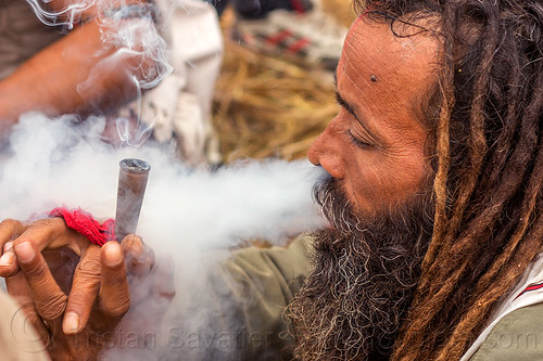
[[[0,275],[54,360],[94,360],[115,344],[122,320],[129,328],[160,323],[141,310],[156,298],[165,308],[174,296],[173,270],[155,267],[153,252],[135,235],[99,247],[60,218],[5,220],[0,244]],[[142,283],[131,295],[129,285]]]

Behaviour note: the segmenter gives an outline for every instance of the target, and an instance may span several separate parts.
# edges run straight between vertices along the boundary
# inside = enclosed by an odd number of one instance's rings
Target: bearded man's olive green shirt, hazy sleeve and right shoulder
[[[207,275],[209,297],[192,300],[197,308],[189,313],[205,313],[206,322],[179,321],[185,330],[159,359],[292,360],[295,345],[283,311],[311,268],[310,243],[302,235],[287,247],[235,250]],[[543,304],[507,314],[469,360],[543,360],[541,315]]]

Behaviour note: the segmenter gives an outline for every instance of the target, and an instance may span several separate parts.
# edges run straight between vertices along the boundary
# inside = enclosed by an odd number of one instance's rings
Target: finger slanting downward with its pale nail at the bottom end
[[[78,333],[89,320],[100,289],[102,273],[100,262],[100,247],[91,245],[85,250],[75,269],[74,282],[62,322],[62,331],[66,335]]]

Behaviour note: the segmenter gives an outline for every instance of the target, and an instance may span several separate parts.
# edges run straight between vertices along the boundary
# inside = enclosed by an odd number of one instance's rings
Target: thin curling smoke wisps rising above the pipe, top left
[[[167,44],[161,34],[161,26],[165,26],[165,23],[159,22],[161,16],[168,14],[161,15],[154,3],[129,4],[125,1],[79,0],[66,4],[60,11],[50,11],[47,4],[51,0],[26,1],[36,16],[48,26],[72,30],[76,24],[88,21],[96,21],[99,25],[102,48],[93,55],[97,57],[97,63],[89,69],[87,79],[77,87],[77,92],[84,99],[89,99],[97,91],[96,85],[101,82],[100,77],[118,68],[117,64],[129,65],[130,69],[126,70],[126,77],[136,89],[132,98],[138,100],[141,99],[142,89],[156,87],[173,72]],[[173,7],[171,4],[168,11],[172,11]],[[123,124],[126,119],[117,119],[119,137],[132,145],[141,144],[149,136],[149,127],[142,124],[140,115],[139,106],[135,132],[126,130],[127,126]]]

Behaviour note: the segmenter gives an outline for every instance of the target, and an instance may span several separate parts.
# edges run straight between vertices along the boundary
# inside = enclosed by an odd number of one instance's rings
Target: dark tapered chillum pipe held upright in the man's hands
[[[151,166],[136,158],[123,159],[118,166],[115,236],[121,242],[127,234],[136,233]]]

